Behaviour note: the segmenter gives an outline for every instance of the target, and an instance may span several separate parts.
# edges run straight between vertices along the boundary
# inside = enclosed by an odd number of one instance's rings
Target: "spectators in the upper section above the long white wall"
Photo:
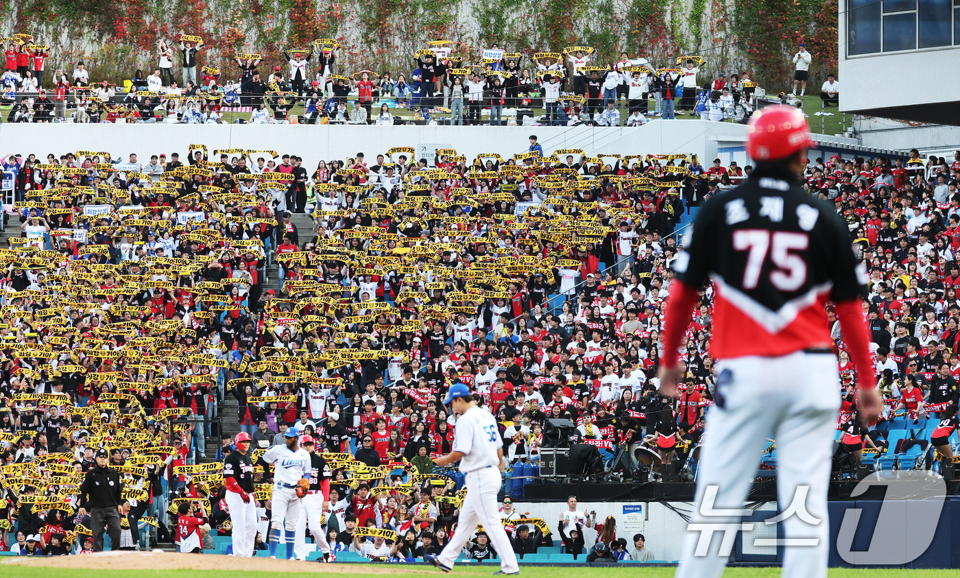
[[[522,124],[527,117],[527,124],[633,127],[677,114],[745,123],[756,108],[757,85],[746,71],[730,78],[721,72],[705,82],[700,57],[656,68],[627,53],[602,62],[588,46],[522,54],[494,45],[470,64],[458,56],[459,43],[436,40],[412,57],[409,70],[348,74],[337,61],[338,43],[328,38],[288,49],[272,69],[259,54],[238,54],[232,71],[198,66],[204,48],[198,37],[183,36],[176,44],[162,40],[156,65],[137,69],[119,92],[109,82],[90,84],[89,71],[78,61],[70,74],[54,71],[50,97],[43,85],[49,48],[26,41],[10,38],[0,76],[2,97],[14,104],[9,122],[58,122],[72,114],[74,122],[216,124],[225,122],[225,110],[240,110],[250,112],[240,120],[255,124],[391,125],[392,108],[413,108],[415,120],[452,125],[481,124],[481,117],[489,116],[491,125]],[[173,74],[175,62],[181,83]],[[17,92],[38,95],[17,103]],[[114,98],[118,93],[123,99]],[[292,115],[300,105],[302,114]],[[68,113],[68,108],[77,109]],[[545,113],[534,118],[533,108]]]

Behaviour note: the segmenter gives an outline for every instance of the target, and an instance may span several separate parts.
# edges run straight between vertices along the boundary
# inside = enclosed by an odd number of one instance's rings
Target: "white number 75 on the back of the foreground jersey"
[[[806,261],[791,251],[805,251],[810,237],[802,232],[767,229],[738,229],[733,231],[733,249],[749,251],[743,270],[743,288],[756,289],[763,270],[763,262],[770,260],[777,267],[770,272],[770,282],[780,291],[796,291],[806,282]]]

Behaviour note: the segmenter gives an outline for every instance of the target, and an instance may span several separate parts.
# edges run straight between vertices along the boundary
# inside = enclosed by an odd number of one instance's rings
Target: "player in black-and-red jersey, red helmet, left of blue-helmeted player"
[[[253,466],[250,456],[250,434],[241,431],[233,441],[236,449],[224,460],[224,485],[227,486],[227,507],[233,531],[233,556],[250,558],[256,540],[256,497],[253,495]]]

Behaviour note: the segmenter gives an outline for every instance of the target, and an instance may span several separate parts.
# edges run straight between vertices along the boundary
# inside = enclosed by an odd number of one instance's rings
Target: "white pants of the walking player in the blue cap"
[[[496,494],[500,491],[500,470],[483,468],[467,473],[467,496],[460,506],[460,517],[457,518],[457,530],[446,542],[444,550],[438,557],[440,563],[448,568],[453,567],[453,561],[464,549],[476,530],[477,524],[482,524],[490,542],[500,557],[500,567],[506,573],[520,571],[516,564],[514,546],[507,538],[507,532],[500,523],[499,509],[496,505]]]

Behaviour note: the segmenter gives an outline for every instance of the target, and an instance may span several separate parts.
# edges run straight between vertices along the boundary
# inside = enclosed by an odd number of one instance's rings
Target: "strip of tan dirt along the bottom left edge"
[[[0,559],[0,568],[6,565],[40,566],[51,568],[86,568],[98,570],[232,570],[253,572],[326,572],[352,573],[355,565],[318,564],[269,558],[233,558],[232,556],[177,554],[173,552],[100,552],[79,556],[11,557]],[[4,572],[0,569],[0,575]],[[400,565],[363,566],[364,574],[426,574],[430,570],[405,568]]]

